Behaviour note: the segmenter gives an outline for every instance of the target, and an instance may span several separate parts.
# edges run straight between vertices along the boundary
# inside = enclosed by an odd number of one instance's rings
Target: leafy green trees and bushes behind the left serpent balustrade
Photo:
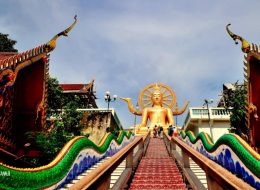
[[[34,144],[42,152],[41,157],[27,160],[37,166],[53,160],[67,141],[76,135],[81,135],[83,127],[83,113],[77,111],[81,103],[80,99],[72,96],[65,100],[59,81],[50,77],[47,82],[47,116],[48,118],[54,116],[56,119],[47,122],[45,132],[30,132],[27,136],[30,138],[28,142]]]

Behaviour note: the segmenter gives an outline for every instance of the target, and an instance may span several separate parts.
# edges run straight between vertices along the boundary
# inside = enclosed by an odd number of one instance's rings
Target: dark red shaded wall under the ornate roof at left
[[[23,147],[25,133],[42,128],[37,118],[37,107],[44,98],[45,64],[39,61],[22,69],[14,86],[13,126],[17,148]],[[41,117],[41,115],[39,115]]]

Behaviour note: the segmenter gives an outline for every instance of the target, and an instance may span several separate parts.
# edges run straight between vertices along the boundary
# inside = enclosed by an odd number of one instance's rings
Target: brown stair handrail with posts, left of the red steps
[[[129,181],[132,172],[136,169],[138,162],[146,152],[150,136],[136,136],[133,142],[129,143],[122,150],[117,152],[111,158],[107,159],[99,167],[91,173],[83,177],[79,182],[71,186],[69,189],[109,189],[111,174],[126,159],[126,167],[120,178],[114,184],[112,189],[124,189]],[[134,154],[134,149],[138,148]]]

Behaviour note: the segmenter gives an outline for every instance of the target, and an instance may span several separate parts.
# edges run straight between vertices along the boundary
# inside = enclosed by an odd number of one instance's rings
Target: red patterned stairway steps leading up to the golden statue
[[[135,172],[130,189],[187,189],[162,139],[151,138],[146,156]]]

